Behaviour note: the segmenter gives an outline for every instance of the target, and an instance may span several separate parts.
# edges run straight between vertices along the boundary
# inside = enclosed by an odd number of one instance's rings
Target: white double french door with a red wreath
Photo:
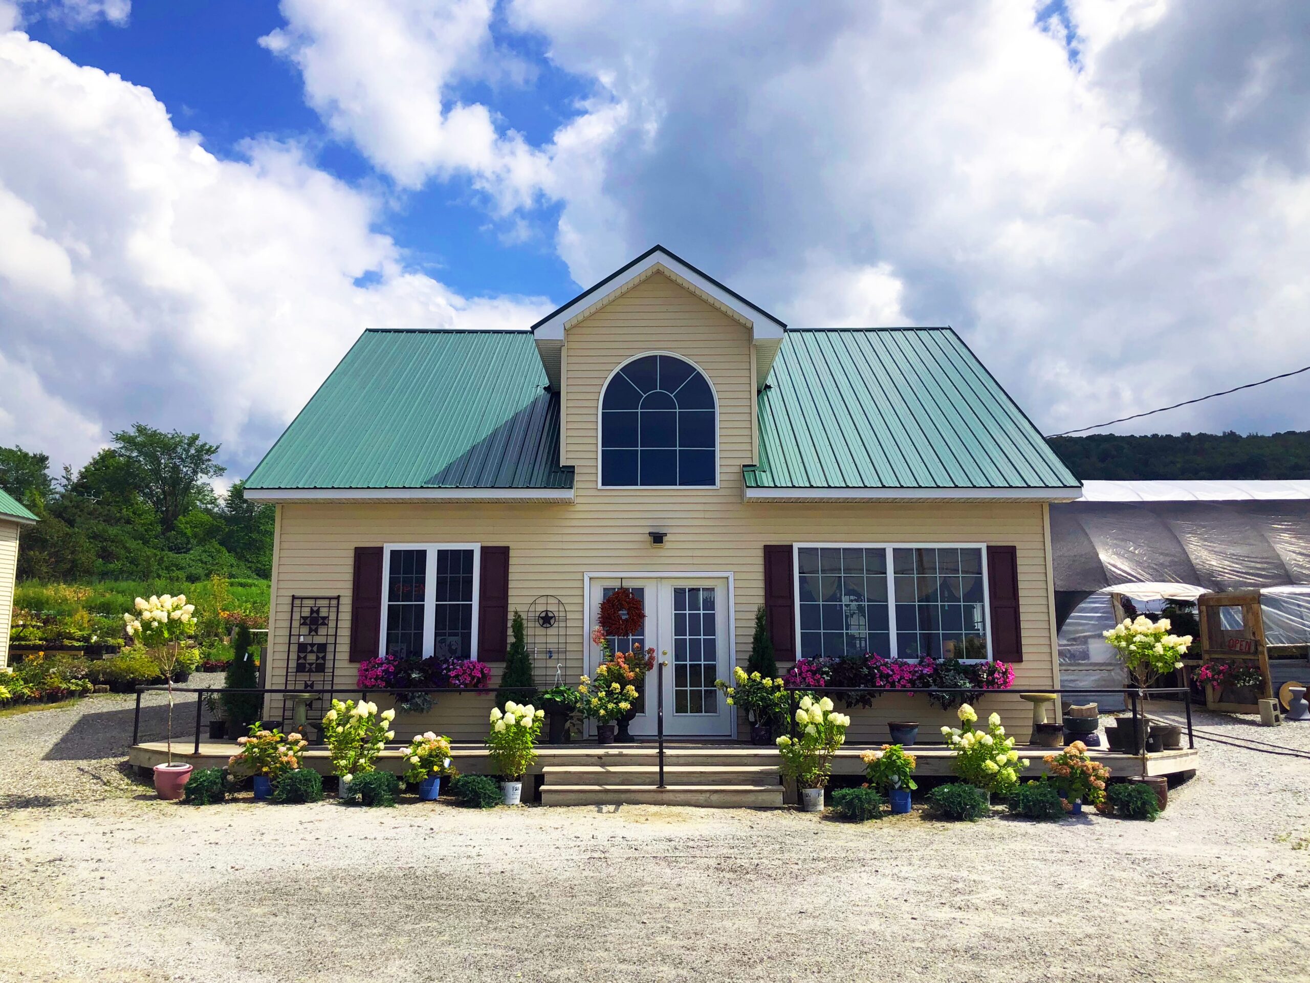
[[[714,687],[730,679],[732,630],[726,577],[608,577],[590,578],[588,624],[595,625],[600,603],[620,586],[642,602],[646,619],[638,634],[608,638],[610,651],[651,649],[664,668],[664,733],[673,737],[730,737],[732,708]],[[664,655],[663,653],[668,653]],[[600,647],[587,640],[588,675],[600,665]],[[659,670],[646,678],[630,730],[654,737],[658,730]]]

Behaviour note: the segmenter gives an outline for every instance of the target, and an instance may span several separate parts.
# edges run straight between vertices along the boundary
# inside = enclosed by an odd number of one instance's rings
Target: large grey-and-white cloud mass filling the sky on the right
[[[1310,363],[1310,8],[1078,0],[1070,58],[1039,7],[514,0],[610,123],[553,160],[561,256],[662,241],[794,324],[954,324],[1049,429]]]

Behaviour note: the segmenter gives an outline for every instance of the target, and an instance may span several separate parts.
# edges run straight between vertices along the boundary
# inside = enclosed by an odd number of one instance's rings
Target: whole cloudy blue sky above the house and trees
[[[951,324],[1047,431],[1310,364],[1307,38],[1290,0],[0,0],[0,444],[143,419],[240,476],[364,328],[521,328],[656,241],[796,326]],[[1310,429],[1307,387],[1120,431]]]

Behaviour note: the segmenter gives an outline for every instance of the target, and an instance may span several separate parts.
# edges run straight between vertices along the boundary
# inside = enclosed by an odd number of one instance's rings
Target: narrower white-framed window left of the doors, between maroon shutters
[[[383,547],[381,651],[476,661],[481,565],[477,543]]]

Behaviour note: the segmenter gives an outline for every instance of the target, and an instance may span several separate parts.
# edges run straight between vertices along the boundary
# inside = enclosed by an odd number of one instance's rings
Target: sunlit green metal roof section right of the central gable
[[[789,329],[748,488],[1077,488],[950,328]]]

